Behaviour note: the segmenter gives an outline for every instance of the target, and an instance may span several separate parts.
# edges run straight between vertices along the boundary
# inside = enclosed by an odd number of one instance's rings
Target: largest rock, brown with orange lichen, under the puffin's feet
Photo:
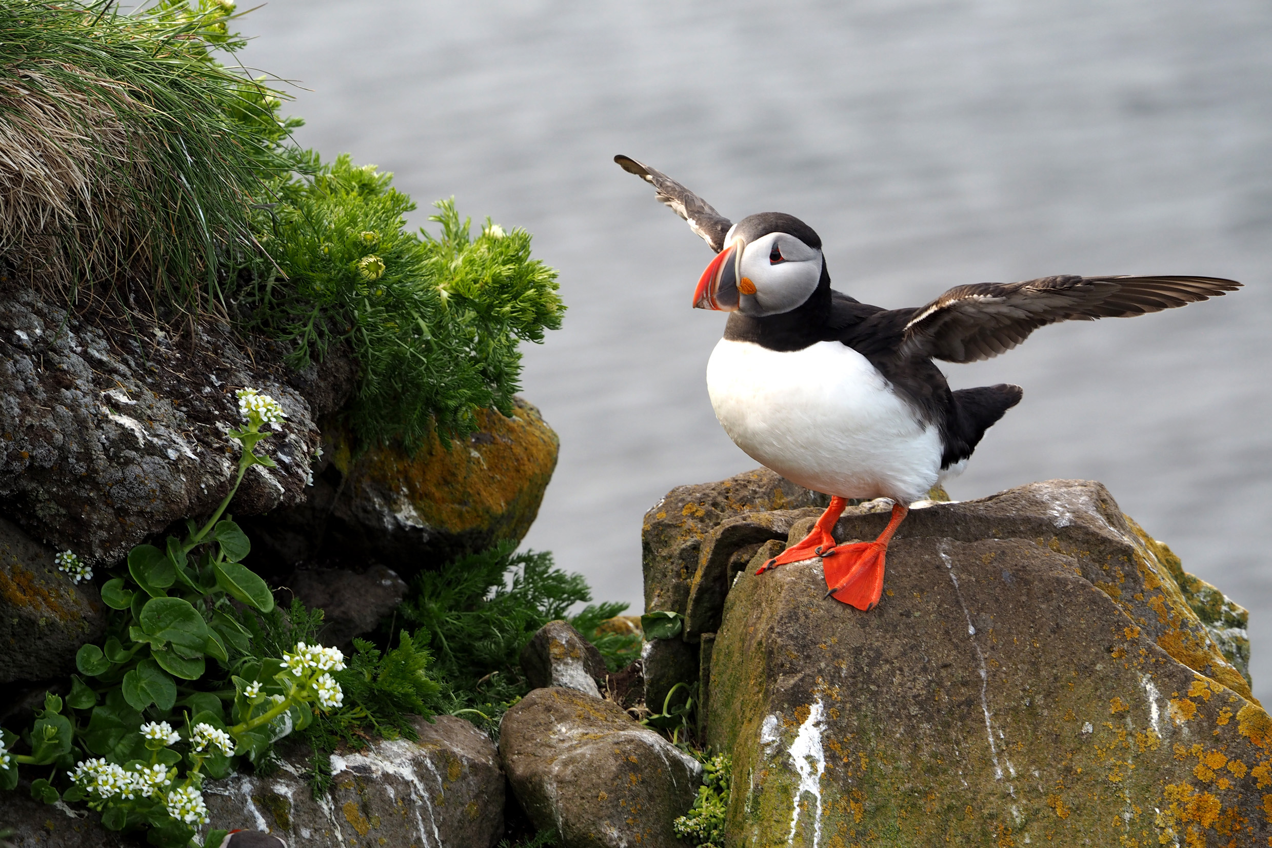
[[[873,509],[836,538],[873,539]],[[1262,844],[1272,720],[1163,548],[1049,481],[913,511],[871,613],[818,561],[742,571],[706,728],[730,844]]]

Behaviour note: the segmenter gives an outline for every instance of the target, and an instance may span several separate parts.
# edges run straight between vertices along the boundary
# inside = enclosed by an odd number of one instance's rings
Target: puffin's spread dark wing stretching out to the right
[[[1241,284],[1217,277],[1042,277],[955,286],[915,311],[902,350],[974,362],[1061,320],[1126,318],[1206,300]]]

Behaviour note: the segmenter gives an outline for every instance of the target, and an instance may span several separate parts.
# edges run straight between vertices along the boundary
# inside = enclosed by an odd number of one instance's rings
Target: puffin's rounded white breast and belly
[[[778,352],[720,339],[707,392],[739,448],[817,492],[909,503],[940,474],[936,427],[918,421],[888,380],[840,342]]]

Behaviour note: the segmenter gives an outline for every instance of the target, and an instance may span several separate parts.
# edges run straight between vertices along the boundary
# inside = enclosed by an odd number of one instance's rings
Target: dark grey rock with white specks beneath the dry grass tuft
[[[318,430],[281,359],[259,350],[253,362],[211,322],[174,343],[140,311],[131,325],[94,320],[0,275],[0,512],[90,564],[210,514],[238,472],[225,432],[244,385],[277,399],[287,421],[259,445],[277,468],[252,468],[232,511],[304,500]]]

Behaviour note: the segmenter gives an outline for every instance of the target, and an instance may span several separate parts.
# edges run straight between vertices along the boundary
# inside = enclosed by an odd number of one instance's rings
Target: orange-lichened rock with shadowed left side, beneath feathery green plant
[[[434,437],[413,456],[375,446],[356,459],[347,432],[333,427],[309,501],[245,529],[282,563],[375,561],[407,577],[519,542],[556,468],[557,436],[522,398],[511,418],[481,409],[477,421],[480,430],[450,450]]]

